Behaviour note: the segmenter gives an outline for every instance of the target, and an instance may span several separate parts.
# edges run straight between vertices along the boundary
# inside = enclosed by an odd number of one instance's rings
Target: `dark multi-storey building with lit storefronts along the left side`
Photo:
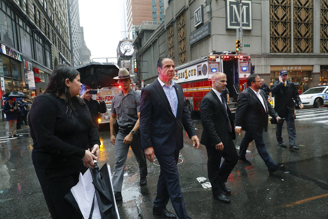
[[[44,92],[52,69],[71,65],[68,33],[66,0],[0,0],[2,95]]]

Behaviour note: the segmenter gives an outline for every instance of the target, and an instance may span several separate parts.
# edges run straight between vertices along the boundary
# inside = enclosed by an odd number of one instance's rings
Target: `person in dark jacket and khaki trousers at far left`
[[[9,98],[5,103],[3,110],[6,114],[6,120],[8,125],[8,134],[9,138],[18,137],[16,134],[16,123],[18,119],[18,108],[16,104],[13,102],[12,98]]]

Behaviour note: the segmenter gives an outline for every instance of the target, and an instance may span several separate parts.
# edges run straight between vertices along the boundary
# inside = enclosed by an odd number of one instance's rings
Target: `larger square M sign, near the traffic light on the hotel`
[[[239,28],[239,13],[241,13],[241,25],[243,30],[252,30],[252,1],[241,1],[241,12],[239,2],[226,0],[226,29]]]

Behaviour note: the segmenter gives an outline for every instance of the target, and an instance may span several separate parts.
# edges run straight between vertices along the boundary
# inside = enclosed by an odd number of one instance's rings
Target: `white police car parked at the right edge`
[[[320,108],[328,104],[328,84],[322,84],[318,87],[310,88],[299,95],[304,106],[314,106]]]

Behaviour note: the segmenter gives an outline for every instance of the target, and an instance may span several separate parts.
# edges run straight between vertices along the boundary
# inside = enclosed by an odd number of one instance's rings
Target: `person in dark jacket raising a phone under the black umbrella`
[[[99,128],[98,124],[98,118],[99,118],[99,113],[106,113],[107,108],[106,108],[106,103],[102,99],[102,95],[100,92],[97,93],[97,97],[99,98],[99,102],[95,99],[91,98],[91,94],[89,94],[89,91],[91,91],[91,88],[88,84],[83,84],[81,87],[81,92],[80,92],[80,98],[84,100],[84,102],[87,104],[91,118],[93,121],[93,124]]]

